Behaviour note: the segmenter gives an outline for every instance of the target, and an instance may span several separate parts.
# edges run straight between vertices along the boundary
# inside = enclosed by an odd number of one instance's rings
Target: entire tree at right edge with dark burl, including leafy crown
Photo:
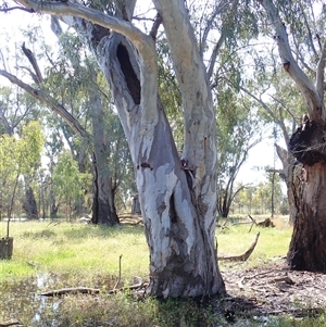
[[[273,37],[284,71],[300,90],[306,110],[289,140],[291,154],[302,166],[293,199],[296,217],[288,262],[294,269],[326,272],[326,8],[323,1],[258,3],[266,22],[264,32]]]

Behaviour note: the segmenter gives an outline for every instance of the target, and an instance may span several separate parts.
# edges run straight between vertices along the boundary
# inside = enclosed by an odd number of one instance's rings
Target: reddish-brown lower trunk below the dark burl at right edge
[[[304,165],[288,253],[291,268],[326,273],[326,163]]]

